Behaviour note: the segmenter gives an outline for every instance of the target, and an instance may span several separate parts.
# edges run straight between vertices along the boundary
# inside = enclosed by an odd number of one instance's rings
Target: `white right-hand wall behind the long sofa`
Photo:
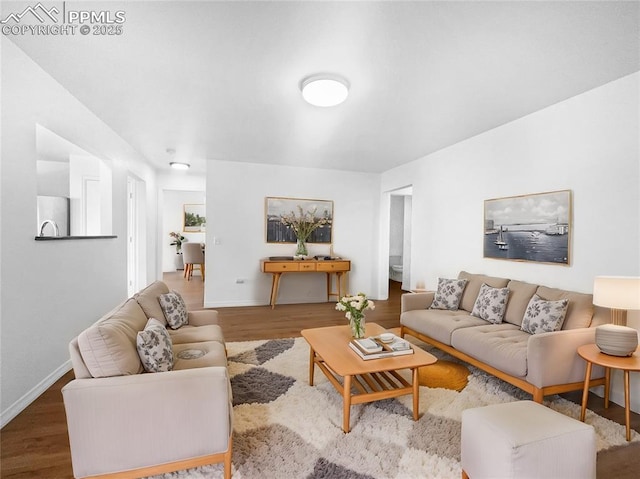
[[[596,275],[639,276],[639,87],[640,74],[629,75],[384,173],[383,192],[413,184],[412,286],[433,289],[463,269],[582,292]],[[483,258],[485,199],[564,189],[569,266]],[[617,375],[612,394],[623,404]]]

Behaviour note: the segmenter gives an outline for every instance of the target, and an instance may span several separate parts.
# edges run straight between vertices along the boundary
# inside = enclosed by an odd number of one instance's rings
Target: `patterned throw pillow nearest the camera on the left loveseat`
[[[159,373],[173,369],[173,348],[171,337],[163,324],[150,318],[144,331],[139,331],[136,338],[138,355],[144,370],[148,373]]]

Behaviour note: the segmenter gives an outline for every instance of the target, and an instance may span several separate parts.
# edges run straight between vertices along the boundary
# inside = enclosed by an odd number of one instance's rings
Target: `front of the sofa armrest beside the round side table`
[[[584,381],[587,363],[578,347],[596,342],[595,328],[578,328],[533,334],[527,346],[527,381],[537,387]],[[591,378],[604,377],[594,366]]]

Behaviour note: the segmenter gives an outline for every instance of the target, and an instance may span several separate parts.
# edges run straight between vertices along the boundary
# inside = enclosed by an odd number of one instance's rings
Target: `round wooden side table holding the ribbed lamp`
[[[589,397],[589,381],[591,379],[591,367],[596,364],[604,367],[604,407],[609,407],[609,387],[611,386],[611,370],[620,369],[624,372],[624,418],[627,425],[627,441],[631,440],[631,418],[629,407],[629,373],[640,371],[640,346],[632,356],[611,356],[605,354],[595,344],[585,344],[578,348],[578,355],[587,362],[587,371],[584,377],[584,389],[582,391],[582,409],[580,420],[584,422],[587,410],[587,398]]]

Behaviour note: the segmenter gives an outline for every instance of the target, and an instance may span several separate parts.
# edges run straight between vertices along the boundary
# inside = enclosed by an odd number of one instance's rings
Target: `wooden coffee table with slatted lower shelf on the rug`
[[[386,329],[376,323],[367,323],[367,336],[377,336]],[[309,384],[313,386],[313,373],[317,365],[331,384],[342,395],[342,429],[349,432],[352,404],[361,404],[413,394],[413,420],[418,420],[420,390],[418,368],[437,361],[436,357],[414,347],[413,354],[365,361],[349,347],[351,329],[346,326],[303,329],[302,337],[310,347]],[[411,370],[411,382],[398,371]],[[342,383],[338,378],[342,377]]]

